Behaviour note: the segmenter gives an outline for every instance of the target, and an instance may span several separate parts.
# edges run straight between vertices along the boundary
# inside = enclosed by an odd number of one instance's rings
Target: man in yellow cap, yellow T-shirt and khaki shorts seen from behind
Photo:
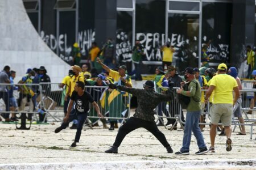
[[[228,67],[225,63],[218,65],[218,75],[213,76],[210,80],[210,87],[205,95],[205,103],[208,102],[213,90],[212,107],[210,108],[210,152],[215,152],[214,142],[216,137],[216,129],[218,121],[221,120],[222,125],[225,127],[226,133],[226,151],[232,150],[232,140],[230,139],[232,133],[232,113],[233,105],[236,104],[240,96],[237,86],[237,81],[232,76],[226,74]],[[233,98],[233,91],[235,96]]]

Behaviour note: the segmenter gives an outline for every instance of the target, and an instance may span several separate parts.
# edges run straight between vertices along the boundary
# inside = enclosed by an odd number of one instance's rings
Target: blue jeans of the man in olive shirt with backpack
[[[196,137],[197,146],[199,149],[205,148],[204,137],[199,128],[199,118],[201,111],[189,112],[187,111],[186,121],[185,121],[185,129],[183,135],[183,144],[181,147],[181,151],[189,151],[189,146],[191,142],[191,134]]]

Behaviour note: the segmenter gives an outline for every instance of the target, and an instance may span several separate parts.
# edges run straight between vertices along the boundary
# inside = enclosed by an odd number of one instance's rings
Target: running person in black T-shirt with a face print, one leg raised
[[[55,133],[59,133],[61,130],[66,129],[69,122],[76,118],[78,121],[76,137],[75,141],[70,147],[76,147],[76,143],[79,142],[82,132],[82,126],[84,125],[84,122],[89,112],[89,102],[92,103],[93,107],[96,109],[98,117],[103,117],[100,112],[100,108],[98,107],[98,104],[93,100],[93,97],[88,92],[84,91],[84,86],[84,82],[76,82],[75,90],[72,92],[71,99],[69,100],[67,115],[64,117],[61,126],[59,128],[56,128],[54,131]],[[74,114],[70,114],[73,106],[73,101],[75,101],[76,103],[76,111]]]

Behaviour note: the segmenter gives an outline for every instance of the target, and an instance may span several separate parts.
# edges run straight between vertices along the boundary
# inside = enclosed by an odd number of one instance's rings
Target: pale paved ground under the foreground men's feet
[[[176,156],[168,154],[160,142],[148,131],[138,129],[127,135],[118,149],[118,154],[105,154],[113,144],[117,130],[109,131],[102,126],[82,131],[80,143],[76,149],[69,150],[76,130],[66,129],[59,134],[53,131],[59,122],[49,125],[32,125],[31,130],[16,130],[14,124],[0,124],[0,162],[15,163],[72,163],[72,162],[114,162],[114,161],[170,161],[170,160],[234,160],[255,159],[256,141],[247,135],[233,133],[233,150],[226,152],[226,137],[216,138],[216,153],[195,155],[198,150],[195,137],[192,137],[190,155]],[[253,138],[256,137],[254,126]],[[174,151],[179,151],[183,131],[160,128],[166,135]],[[238,131],[239,128],[236,129]],[[247,128],[249,131],[249,127]],[[203,132],[209,147],[209,128]],[[256,160],[253,160],[256,162]],[[1,165],[0,164],[0,165]],[[248,167],[247,167],[248,168]],[[250,167],[249,167],[250,168]],[[1,169],[1,166],[0,166]]]

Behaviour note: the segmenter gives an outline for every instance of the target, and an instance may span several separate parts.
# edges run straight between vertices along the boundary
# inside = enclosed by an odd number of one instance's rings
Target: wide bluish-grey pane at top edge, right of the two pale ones
[[[199,2],[169,2],[169,10],[199,11]]]

